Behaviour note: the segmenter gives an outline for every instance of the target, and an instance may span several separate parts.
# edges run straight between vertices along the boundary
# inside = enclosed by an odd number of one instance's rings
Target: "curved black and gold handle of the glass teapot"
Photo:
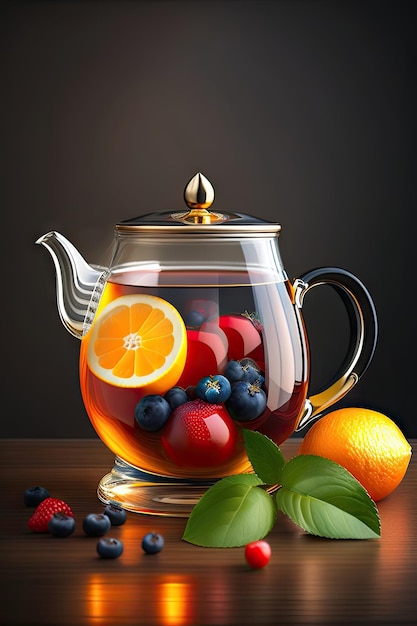
[[[306,411],[297,430],[343,398],[365,373],[375,352],[378,320],[373,300],[363,283],[350,272],[338,267],[321,267],[295,281],[296,303],[302,307],[310,289],[331,286],[341,297],[349,317],[349,348],[339,371],[323,391],[306,400]]]

